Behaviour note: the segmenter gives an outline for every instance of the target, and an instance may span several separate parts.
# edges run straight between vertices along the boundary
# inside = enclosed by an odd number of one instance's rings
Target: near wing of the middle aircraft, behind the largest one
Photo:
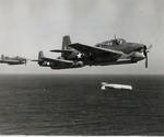
[[[73,61],[63,60],[63,59],[52,59],[52,58],[46,58],[46,57],[43,57],[42,59],[46,60],[46,61],[49,61],[49,62],[56,62],[56,64],[67,64],[67,65],[72,65],[73,64]]]

